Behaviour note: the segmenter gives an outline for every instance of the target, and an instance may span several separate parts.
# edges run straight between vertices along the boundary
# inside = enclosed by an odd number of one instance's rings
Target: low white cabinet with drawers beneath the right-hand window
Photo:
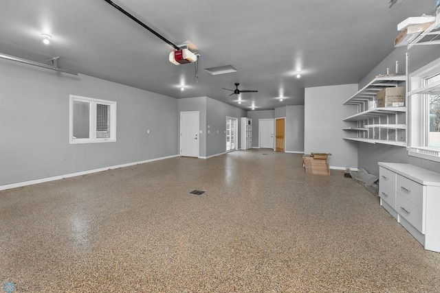
[[[410,164],[379,166],[380,205],[425,249],[440,252],[440,174]]]

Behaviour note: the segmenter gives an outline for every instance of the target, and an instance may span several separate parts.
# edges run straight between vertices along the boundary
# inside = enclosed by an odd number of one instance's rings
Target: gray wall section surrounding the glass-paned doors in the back
[[[210,126],[207,130],[210,133],[206,134],[206,156],[212,156],[214,154],[221,154],[226,151],[226,117],[234,117],[237,118],[238,123],[238,135],[236,137],[237,142],[239,143],[238,148],[241,148],[240,145],[240,133],[241,133],[241,125],[240,118],[246,117],[247,112],[240,108],[236,108],[234,106],[222,103],[217,101],[216,99],[212,99],[210,97],[206,100],[206,127]],[[217,133],[218,131],[218,133]]]

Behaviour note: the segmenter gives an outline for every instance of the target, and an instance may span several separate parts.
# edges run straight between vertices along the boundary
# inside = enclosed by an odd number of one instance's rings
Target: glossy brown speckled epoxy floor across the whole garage
[[[270,150],[0,191],[0,232],[0,292],[440,292],[378,198]]]

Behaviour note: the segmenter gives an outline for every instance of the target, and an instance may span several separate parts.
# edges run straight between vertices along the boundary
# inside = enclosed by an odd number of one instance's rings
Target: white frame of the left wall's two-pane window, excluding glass
[[[74,138],[74,102],[89,104],[89,138]],[[109,110],[109,137],[96,137],[96,104],[110,106]],[[69,95],[69,144],[77,143],[109,143],[116,141],[116,102],[93,97]]]

